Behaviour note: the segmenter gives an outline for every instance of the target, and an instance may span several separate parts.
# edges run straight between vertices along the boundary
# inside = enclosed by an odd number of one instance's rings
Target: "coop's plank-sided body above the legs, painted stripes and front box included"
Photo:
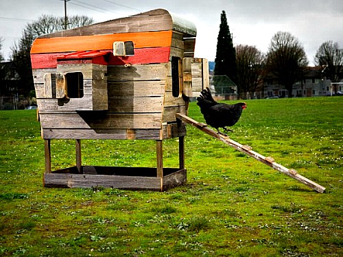
[[[175,114],[187,99],[174,97],[171,57],[193,57],[195,33],[182,32],[169,12],[154,10],[40,36],[31,50],[43,138],[155,139],[185,135]],[[113,56],[113,42],[132,41],[133,56]],[[78,51],[107,51],[101,62],[58,59]],[[181,62],[182,63],[182,62]],[[84,95],[64,99],[51,73],[81,72]],[[58,99],[60,97],[60,99]]]

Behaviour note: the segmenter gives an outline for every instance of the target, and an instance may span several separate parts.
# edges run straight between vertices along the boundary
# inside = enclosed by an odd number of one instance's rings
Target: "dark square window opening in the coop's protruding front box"
[[[66,97],[81,98],[84,96],[84,76],[81,72],[67,73],[66,79]]]

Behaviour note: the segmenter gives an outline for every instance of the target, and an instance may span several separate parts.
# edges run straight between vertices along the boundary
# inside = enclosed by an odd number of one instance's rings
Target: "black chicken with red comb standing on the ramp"
[[[213,99],[209,88],[202,90],[197,100],[206,123],[214,127],[218,131],[218,134],[222,135],[225,134],[220,132],[219,128],[222,127],[226,132],[233,132],[228,127],[237,123],[241,117],[242,110],[246,108],[246,103],[236,103],[233,105],[217,103]]]

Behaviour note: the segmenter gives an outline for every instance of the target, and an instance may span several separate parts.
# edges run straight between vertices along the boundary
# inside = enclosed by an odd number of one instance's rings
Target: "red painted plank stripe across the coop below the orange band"
[[[166,63],[169,61],[170,47],[154,47],[134,49],[134,56],[113,56],[109,55],[108,65],[123,65],[123,64],[151,64],[151,63]],[[31,54],[32,69],[47,69],[57,67],[57,56],[63,53],[35,53]],[[92,60],[92,59],[88,59]],[[58,63],[76,63],[87,62],[84,58],[75,60],[59,60]],[[95,60],[94,60],[95,61]],[[97,63],[97,61],[93,62]],[[106,64],[106,63],[102,63]]]

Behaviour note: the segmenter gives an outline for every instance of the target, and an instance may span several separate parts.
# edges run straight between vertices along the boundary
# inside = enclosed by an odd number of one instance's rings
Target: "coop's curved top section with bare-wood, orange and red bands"
[[[110,56],[109,65],[126,62],[131,64],[168,62],[174,32],[182,34],[182,38],[193,40],[196,37],[196,26],[191,21],[171,14],[167,10],[156,9],[43,35],[36,38],[32,44],[32,69],[56,68],[58,56],[80,51],[98,51],[98,53],[113,51],[115,42],[126,41],[134,43],[134,56],[125,60]]]

